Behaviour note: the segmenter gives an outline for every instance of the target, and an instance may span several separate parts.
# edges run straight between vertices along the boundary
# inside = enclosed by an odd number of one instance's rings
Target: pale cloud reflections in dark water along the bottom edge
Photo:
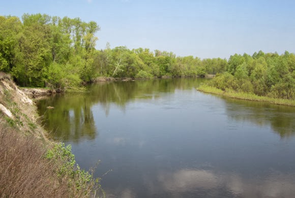
[[[294,175],[271,172],[261,178],[211,170],[163,171],[157,178],[146,176],[144,194],[138,189],[106,189],[107,197],[285,197],[295,194]],[[141,189],[142,190],[142,189]]]

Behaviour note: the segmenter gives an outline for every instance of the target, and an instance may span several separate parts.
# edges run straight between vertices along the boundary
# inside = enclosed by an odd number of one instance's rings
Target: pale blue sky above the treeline
[[[126,46],[178,56],[229,58],[255,51],[295,52],[295,1],[2,1],[0,15],[48,14],[96,21],[97,49]]]

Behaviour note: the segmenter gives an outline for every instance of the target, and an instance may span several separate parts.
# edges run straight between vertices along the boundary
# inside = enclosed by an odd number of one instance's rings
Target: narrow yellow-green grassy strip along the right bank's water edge
[[[244,93],[244,92],[235,92],[233,90],[221,90],[216,87],[208,86],[208,85],[201,85],[197,88],[198,91],[202,91],[205,93],[213,93],[217,95],[223,95],[226,97],[236,98],[240,100],[247,100],[247,101],[257,101],[257,102],[267,102],[270,104],[275,105],[285,105],[285,106],[293,106],[295,107],[295,101],[284,100],[280,98],[271,98],[265,96],[258,96],[253,93]]]

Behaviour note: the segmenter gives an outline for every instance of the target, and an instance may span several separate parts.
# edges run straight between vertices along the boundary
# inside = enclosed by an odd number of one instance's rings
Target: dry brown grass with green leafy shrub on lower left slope
[[[47,153],[33,135],[24,136],[0,119],[0,197],[98,196],[99,183],[89,177],[78,185],[76,171],[61,176],[58,170],[65,161],[50,160]]]

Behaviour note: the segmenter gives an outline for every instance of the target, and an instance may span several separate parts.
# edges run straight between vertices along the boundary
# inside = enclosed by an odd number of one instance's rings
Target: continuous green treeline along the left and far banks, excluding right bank
[[[70,88],[99,76],[152,78],[221,73],[227,61],[115,47],[96,50],[96,22],[24,14],[0,16],[0,71],[20,86]]]

